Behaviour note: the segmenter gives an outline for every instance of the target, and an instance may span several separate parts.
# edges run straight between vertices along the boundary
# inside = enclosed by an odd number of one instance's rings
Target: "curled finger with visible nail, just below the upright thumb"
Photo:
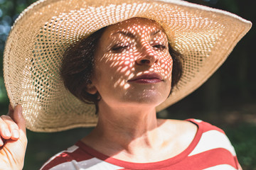
[[[17,140],[19,137],[18,125],[8,115],[2,115],[1,118],[4,120],[11,132],[11,140]]]

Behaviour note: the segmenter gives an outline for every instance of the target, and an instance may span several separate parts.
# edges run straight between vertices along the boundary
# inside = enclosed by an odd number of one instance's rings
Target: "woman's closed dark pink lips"
[[[142,74],[139,77],[134,77],[134,79],[128,80],[128,82],[136,82],[136,83],[142,83],[142,84],[154,84],[159,83],[163,81],[163,78],[160,74],[156,73],[148,73],[148,74]]]

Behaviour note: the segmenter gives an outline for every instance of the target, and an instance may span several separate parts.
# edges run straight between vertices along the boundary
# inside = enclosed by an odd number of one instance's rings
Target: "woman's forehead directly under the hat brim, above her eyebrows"
[[[151,33],[156,30],[163,30],[161,26],[146,18],[130,18],[128,20],[122,21],[120,23],[115,23],[108,26],[105,33],[113,34],[118,31],[129,31],[134,33]]]

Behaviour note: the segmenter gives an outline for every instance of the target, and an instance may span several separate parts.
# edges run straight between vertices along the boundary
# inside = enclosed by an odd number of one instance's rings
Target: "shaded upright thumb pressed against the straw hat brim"
[[[17,105],[14,109],[9,106],[9,115],[14,120],[14,122],[18,125],[18,128],[26,134],[26,120],[22,115],[22,107],[21,105]]]

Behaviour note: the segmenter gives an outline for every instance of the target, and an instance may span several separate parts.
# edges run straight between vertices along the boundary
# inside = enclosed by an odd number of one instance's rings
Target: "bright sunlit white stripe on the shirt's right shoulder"
[[[198,145],[196,145],[196,148],[193,149],[188,156],[216,148],[227,149],[231,152],[231,154],[233,154],[233,156],[235,156],[235,149],[231,145],[230,140],[228,140],[228,137],[225,134],[219,132],[218,130],[209,130],[208,132],[204,132],[198,142]]]

